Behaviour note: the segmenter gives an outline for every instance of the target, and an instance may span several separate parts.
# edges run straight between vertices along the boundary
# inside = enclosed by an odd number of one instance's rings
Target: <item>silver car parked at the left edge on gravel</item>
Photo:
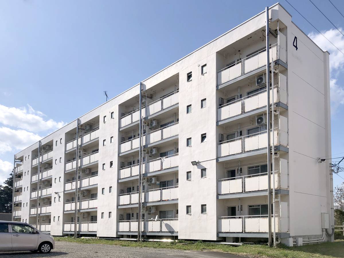
[[[0,221],[0,251],[31,251],[47,254],[54,238],[27,223]]]

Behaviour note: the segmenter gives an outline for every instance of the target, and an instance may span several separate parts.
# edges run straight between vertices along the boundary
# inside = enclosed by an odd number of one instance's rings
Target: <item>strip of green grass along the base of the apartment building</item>
[[[185,240],[178,240],[177,243],[185,243],[186,245],[178,245],[176,242],[141,242],[106,240],[106,239],[85,239],[72,237],[55,237],[55,241],[67,241],[78,244],[104,244],[127,247],[150,247],[150,248],[168,248],[179,250],[212,250],[228,252],[236,255],[248,257],[344,257],[344,240],[336,240],[334,243],[323,243],[315,245],[306,245],[301,247],[286,247],[279,245],[277,248],[268,247],[266,245],[242,245],[238,247],[219,245],[213,243],[205,243],[198,241],[196,243]]]

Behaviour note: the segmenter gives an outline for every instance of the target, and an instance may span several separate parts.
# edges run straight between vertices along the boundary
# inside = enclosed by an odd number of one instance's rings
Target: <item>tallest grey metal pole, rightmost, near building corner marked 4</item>
[[[267,120],[267,159],[268,159],[268,236],[269,246],[271,246],[271,146],[270,146],[270,56],[269,56],[269,7],[265,8],[266,13],[266,95],[267,95],[267,106],[266,106],[266,120]],[[274,146],[272,147],[274,148]]]

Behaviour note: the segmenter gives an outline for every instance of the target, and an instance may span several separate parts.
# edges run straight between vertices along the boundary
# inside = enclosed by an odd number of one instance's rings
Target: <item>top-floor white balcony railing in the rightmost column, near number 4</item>
[[[278,58],[278,44],[270,46],[269,50],[270,63]],[[258,53],[247,56],[246,58],[238,61],[233,66],[227,66],[217,72],[217,85],[224,84],[233,80],[241,75],[251,72],[259,67],[266,65],[266,49],[259,51]]]

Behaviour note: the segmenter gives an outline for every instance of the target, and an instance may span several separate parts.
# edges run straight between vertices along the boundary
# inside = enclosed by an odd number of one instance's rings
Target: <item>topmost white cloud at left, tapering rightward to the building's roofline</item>
[[[0,123],[6,126],[21,128],[30,132],[40,132],[56,130],[65,125],[63,121],[44,120],[44,116],[41,111],[34,110],[30,105],[28,108],[0,105]]]

